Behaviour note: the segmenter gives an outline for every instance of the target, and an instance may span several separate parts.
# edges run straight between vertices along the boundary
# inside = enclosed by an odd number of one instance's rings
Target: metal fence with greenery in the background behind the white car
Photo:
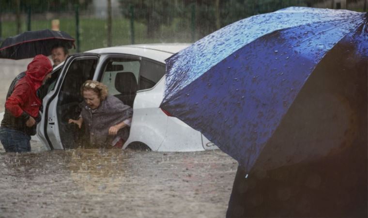
[[[340,1],[321,1],[311,5],[308,0],[244,0],[229,1],[217,9],[209,5],[180,4],[175,8],[157,9],[151,20],[149,11],[119,4],[111,10],[108,22],[108,7],[80,8],[75,5],[62,11],[39,12],[25,8],[0,9],[0,39],[23,31],[60,29],[76,38],[76,50],[87,51],[98,47],[141,43],[195,42],[201,37],[248,16],[273,12],[290,6],[311,6],[363,11],[365,0],[341,4]],[[231,3],[232,2],[232,3]],[[235,2],[235,3],[234,3]],[[261,2],[261,3],[260,3]],[[349,2],[349,1],[343,1]],[[339,4],[337,4],[339,3]],[[18,14],[18,19],[17,19]],[[17,22],[19,20],[20,22]],[[59,24],[58,24],[59,22]]]

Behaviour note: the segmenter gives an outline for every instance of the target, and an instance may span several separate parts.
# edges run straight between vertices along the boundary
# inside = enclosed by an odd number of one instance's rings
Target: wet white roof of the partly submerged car
[[[141,57],[150,58],[156,61],[165,62],[171,55],[190,46],[189,43],[160,43],[160,44],[138,44],[116,47],[105,47],[86,51],[88,53],[121,53],[132,54]]]

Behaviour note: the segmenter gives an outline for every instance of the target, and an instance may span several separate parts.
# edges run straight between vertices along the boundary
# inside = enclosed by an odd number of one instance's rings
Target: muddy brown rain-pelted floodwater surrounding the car
[[[222,218],[237,163],[219,150],[76,149],[0,153],[0,167],[0,217]]]

